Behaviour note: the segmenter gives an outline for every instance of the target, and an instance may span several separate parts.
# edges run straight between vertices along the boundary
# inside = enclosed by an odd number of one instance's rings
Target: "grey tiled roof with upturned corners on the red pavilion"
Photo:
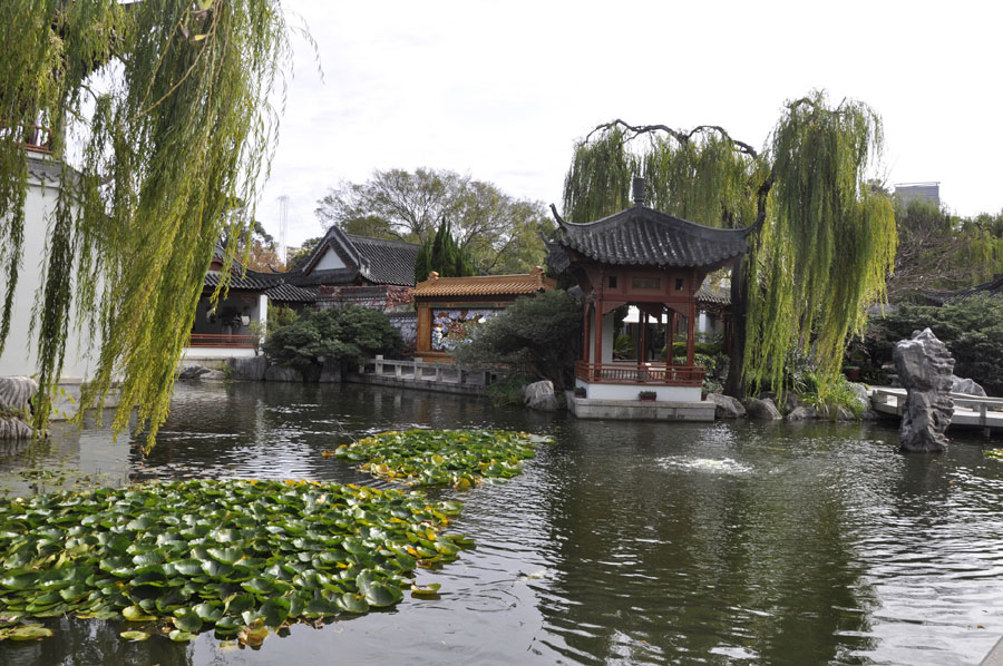
[[[718,266],[749,249],[746,236],[752,228],[705,227],[640,205],[588,224],[559,222],[561,236],[551,244],[557,270],[568,258],[554,253],[554,245],[604,264]]]

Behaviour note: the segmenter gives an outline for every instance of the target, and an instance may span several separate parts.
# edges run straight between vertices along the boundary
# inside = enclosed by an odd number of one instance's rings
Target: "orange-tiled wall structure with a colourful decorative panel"
[[[416,356],[451,361],[449,352],[477,324],[505,310],[519,296],[553,290],[556,281],[543,268],[517,275],[439,277],[432,271],[415,287],[418,308]]]

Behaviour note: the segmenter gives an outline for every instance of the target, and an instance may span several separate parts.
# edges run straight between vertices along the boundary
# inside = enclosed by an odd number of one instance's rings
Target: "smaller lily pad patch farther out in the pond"
[[[507,430],[408,430],[382,432],[344,444],[334,454],[373,477],[408,486],[469,490],[485,478],[510,479],[538,443],[553,438]]]

